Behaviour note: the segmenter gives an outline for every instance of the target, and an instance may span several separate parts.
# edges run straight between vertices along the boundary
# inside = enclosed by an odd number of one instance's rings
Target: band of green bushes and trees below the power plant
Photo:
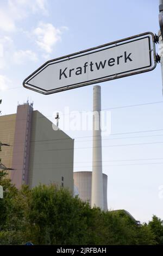
[[[155,245],[162,221],[137,225],[124,211],[91,209],[64,188],[39,185],[21,190],[0,172],[0,245]]]

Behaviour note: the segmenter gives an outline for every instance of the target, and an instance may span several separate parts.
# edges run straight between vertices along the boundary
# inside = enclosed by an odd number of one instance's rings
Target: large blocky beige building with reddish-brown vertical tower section
[[[0,117],[0,141],[10,144],[0,152],[11,181],[20,188],[55,183],[73,192],[74,140],[26,103],[17,113]]]

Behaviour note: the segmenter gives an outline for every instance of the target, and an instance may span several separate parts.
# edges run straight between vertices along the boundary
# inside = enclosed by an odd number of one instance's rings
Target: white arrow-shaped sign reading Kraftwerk
[[[23,86],[52,94],[151,71],[155,66],[154,34],[148,32],[49,60]]]

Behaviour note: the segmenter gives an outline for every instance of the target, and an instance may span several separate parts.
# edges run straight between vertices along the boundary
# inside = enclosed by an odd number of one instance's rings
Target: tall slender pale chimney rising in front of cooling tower
[[[101,87],[93,87],[93,166],[91,207],[103,210],[103,174],[102,174],[102,140],[101,140]]]

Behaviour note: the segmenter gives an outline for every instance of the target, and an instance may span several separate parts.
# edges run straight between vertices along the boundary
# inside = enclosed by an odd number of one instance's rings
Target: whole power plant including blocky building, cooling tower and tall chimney
[[[107,211],[108,176],[102,172],[101,87],[93,87],[92,172],[73,173],[74,140],[57,129],[28,102],[17,106],[17,113],[0,117],[0,159],[13,168],[9,178],[17,188],[54,183]]]

